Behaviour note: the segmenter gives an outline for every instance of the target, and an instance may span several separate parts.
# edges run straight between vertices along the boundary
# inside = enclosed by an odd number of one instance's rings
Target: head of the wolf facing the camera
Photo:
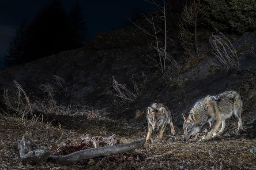
[[[166,122],[166,112],[165,107],[160,107],[159,109],[153,109],[151,106],[147,108],[147,119],[152,125],[153,130],[159,130],[159,127]]]

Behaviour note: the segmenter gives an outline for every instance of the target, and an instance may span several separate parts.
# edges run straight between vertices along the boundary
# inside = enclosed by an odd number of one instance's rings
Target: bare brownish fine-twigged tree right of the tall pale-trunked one
[[[200,0],[192,1],[182,9],[181,21],[178,23],[179,39],[185,53],[189,57],[197,56],[200,58],[197,26],[203,24],[206,17],[207,11],[200,3]]]

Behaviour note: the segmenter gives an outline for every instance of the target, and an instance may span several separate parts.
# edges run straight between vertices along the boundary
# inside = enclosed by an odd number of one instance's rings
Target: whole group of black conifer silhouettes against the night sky
[[[82,9],[77,4],[72,11],[69,17],[60,1],[53,0],[27,27],[22,23],[10,43],[5,61],[12,61],[12,65],[24,64],[81,47],[85,36]]]

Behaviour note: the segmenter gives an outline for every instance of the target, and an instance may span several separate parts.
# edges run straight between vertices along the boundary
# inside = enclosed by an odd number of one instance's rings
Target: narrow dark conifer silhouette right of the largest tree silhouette
[[[82,8],[79,3],[75,3],[69,13],[71,32],[74,38],[74,47],[81,47],[86,36],[86,22],[84,21]]]

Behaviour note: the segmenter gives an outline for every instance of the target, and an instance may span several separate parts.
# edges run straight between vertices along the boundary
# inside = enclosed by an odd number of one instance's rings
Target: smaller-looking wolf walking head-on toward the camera
[[[152,103],[147,108],[147,141],[151,141],[152,130],[159,130],[157,139],[161,139],[166,129],[166,125],[170,124],[172,134],[175,134],[172,116],[169,109],[161,103]]]

